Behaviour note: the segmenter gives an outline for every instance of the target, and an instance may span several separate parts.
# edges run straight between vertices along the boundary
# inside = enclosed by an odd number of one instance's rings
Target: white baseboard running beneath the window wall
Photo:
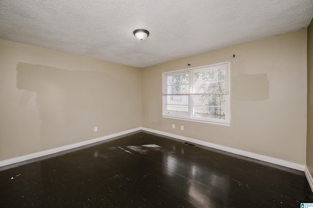
[[[150,128],[141,128],[144,131],[149,131],[152,133],[156,133],[156,134],[160,134],[160,135],[164,135],[164,136],[168,136],[168,137],[173,137],[179,140],[183,140],[183,141],[187,141],[187,142],[191,142],[191,143],[195,143],[198,145],[202,145],[202,146],[208,146],[208,147],[212,147],[214,149],[219,149],[219,150],[223,150],[226,152],[231,152],[234,154],[238,154],[238,155],[242,155],[245,157],[249,157],[249,158],[253,158],[253,159],[257,159],[257,160],[261,160],[261,161],[265,161],[271,164],[276,164],[276,165],[280,165],[280,166],[285,166],[285,167],[290,167],[296,170],[301,170],[304,171],[305,170],[305,165],[300,165],[297,163],[292,163],[286,160],[281,160],[281,159],[277,159],[277,158],[273,158],[273,157],[268,157],[268,156],[264,156],[264,155],[259,155],[259,154],[255,154],[252,152],[247,152],[247,151],[243,151],[240,149],[235,149],[235,148],[231,148],[231,147],[227,147],[227,146],[222,146],[222,145],[217,145],[217,144],[213,144],[213,143],[209,143],[209,142],[204,142],[201,140],[196,140],[196,139],[191,139],[188,137],[183,137],[183,136],[179,136],[176,134],[171,134],[171,133],[167,133],[167,132],[163,132],[163,131],[158,131],[158,130],[154,130],[154,129],[150,129]]]

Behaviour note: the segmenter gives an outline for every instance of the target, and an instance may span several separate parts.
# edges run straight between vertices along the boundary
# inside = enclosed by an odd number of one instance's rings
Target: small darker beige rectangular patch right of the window
[[[240,74],[231,79],[231,97],[239,101],[263,101],[269,98],[267,74]]]

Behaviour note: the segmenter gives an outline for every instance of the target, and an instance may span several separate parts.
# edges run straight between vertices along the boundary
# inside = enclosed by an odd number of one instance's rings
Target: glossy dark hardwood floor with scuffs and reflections
[[[299,208],[304,172],[136,132],[0,168],[5,208]]]

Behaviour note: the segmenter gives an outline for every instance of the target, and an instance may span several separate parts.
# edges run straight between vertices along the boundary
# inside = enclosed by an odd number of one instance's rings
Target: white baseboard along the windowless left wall
[[[111,135],[104,136],[104,137],[99,137],[99,138],[96,138],[96,139],[87,140],[87,141],[84,141],[84,142],[75,143],[75,144],[72,144],[72,145],[60,146],[60,147],[57,147],[57,148],[48,149],[48,150],[45,150],[45,151],[40,151],[40,152],[24,155],[24,156],[21,156],[21,157],[15,157],[15,158],[12,158],[12,159],[3,160],[3,161],[0,161],[0,167],[1,166],[12,165],[12,164],[19,163],[19,162],[22,162],[22,161],[26,161],[26,160],[30,160],[30,159],[46,156],[46,155],[49,155],[49,154],[65,151],[65,150],[68,150],[68,149],[72,149],[72,148],[76,148],[76,147],[85,146],[85,145],[89,145],[89,144],[92,144],[92,143],[108,140],[108,139],[111,139],[113,137],[122,136],[124,134],[129,134],[129,133],[132,133],[132,132],[135,132],[135,131],[139,131],[139,130],[141,130],[140,127],[133,128],[133,129],[130,129],[130,130],[118,132],[118,133],[111,134]]]

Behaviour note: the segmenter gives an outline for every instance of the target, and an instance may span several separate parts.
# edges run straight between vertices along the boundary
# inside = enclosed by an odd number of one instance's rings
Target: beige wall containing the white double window
[[[230,61],[233,54],[231,126],[161,117],[162,72]],[[306,164],[306,29],[143,68],[141,85],[143,127]]]

